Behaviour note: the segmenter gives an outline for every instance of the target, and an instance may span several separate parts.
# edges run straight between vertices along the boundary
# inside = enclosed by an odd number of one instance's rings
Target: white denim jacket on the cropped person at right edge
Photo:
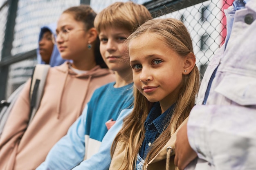
[[[256,1],[225,14],[228,36],[209,64],[191,110],[189,143],[199,157],[195,170],[256,170]]]

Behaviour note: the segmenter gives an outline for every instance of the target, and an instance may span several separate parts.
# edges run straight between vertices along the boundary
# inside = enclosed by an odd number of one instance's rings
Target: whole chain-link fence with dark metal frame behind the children
[[[13,1],[15,0],[0,1],[0,93],[4,93],[0,94],[0,99],[8,97],[31,76],[37,63],[35,49],[38,46],[41,26],[56,22],[63,10],[81,3],[90,3],[92,9],[99,12],[114,2],[128,0],[16,0],[18,3],[12,47],[9,56],[5,56],[5,30],[10,4]],[[132,1],[144,4],[153,17],[173,17],[184,22],[191,33],[196,64],[203,75],[211,58],[225,40],[226,20],[223,10],[227,9],[233,0]],[[3,76],[6,66],[7,78]],[[3,88],[4,91],[1,91]]]

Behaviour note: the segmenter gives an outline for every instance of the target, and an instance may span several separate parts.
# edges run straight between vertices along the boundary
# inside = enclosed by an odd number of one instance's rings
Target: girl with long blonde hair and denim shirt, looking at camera
[[[175,132],[189,116],[199,72],[192,40],[173,18],[142,24],[128,37],[135,104],[112,145],[110,170],[175,169]],[[169,167],[170,166],[170,167]]]

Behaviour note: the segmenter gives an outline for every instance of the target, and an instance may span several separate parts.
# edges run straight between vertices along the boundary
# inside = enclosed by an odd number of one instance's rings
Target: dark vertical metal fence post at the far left
[[[9,0],[9,11],[7,17],[7,23],[4,34],[4,43],[2,48],[2,60],[5,57],[11,56],[15,19],[18,9],[18,0]],[[0,67],[0,100],[6,96],[6,84],[8,77],[9,65]]]

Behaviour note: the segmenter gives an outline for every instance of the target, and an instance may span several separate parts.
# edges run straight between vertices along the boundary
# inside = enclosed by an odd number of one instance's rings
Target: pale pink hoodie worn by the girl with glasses
[[[96,88],[115,81],[108,70],[95,66],[76,74],[68,63],[49,69],[40,106],[29,121],[29,80],[7,119],[0,138],[0,170],[31,170],[45,160],[52,146],[81,115]]]

